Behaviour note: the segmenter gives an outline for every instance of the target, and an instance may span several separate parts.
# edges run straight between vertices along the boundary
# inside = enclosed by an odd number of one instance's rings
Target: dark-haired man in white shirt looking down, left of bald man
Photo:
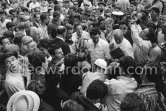
[[[104,59],[109,63],[111,56],[108,42],[100,38],[100,31],[97,28],[93,28],[90,35],[92,39],[88,40],[87,50],[90,54],[91,63],[94,64],[97,59]]]

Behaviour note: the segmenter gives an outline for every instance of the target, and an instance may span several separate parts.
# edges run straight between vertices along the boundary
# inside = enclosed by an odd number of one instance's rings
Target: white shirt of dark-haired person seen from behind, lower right
[[[126,94],[132,93],[137,88],[134,78],[119,76],[117,79],[106,80],[108,94],[105,99],[109,111],[120,111],[120,104]]]

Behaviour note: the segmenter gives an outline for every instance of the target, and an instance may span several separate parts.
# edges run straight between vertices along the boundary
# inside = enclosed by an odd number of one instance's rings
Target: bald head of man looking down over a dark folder
[[[113,35],[114,35],[115,42],[117,44],[120,44],[122,40],[124,39],[123,31],[121,29],[114,30]]]

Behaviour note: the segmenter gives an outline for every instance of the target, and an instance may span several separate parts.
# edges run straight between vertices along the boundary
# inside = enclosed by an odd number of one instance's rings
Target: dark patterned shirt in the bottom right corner
[[[146,105],[146,111],[156,110],[158,93],[155,88],[155,83],[142,84],[134,93],[136,93],[144,101]]]

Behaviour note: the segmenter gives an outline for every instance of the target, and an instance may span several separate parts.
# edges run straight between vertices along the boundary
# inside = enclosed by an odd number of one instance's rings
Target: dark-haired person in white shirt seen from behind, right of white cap
[[[125,56],[119,61],[119,68],[121,68],[120,76],[117,79],[106,80],[108,86],[108,94],[105,97],[105,104],[109,111],[120,111],[120,104],[125,98],[126,94],[132,93],[137,88],[137,81],[131,77],[134,73],[135,61],[130,56]],[[112,69],[108,69],[112,70]]]

